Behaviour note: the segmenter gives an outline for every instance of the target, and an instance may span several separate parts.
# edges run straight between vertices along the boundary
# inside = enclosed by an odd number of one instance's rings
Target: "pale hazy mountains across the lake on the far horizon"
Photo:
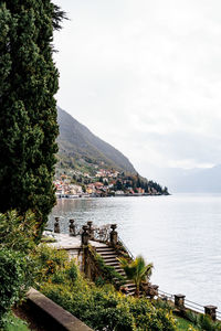
[[[221,192],[221,164],[207,169],[161,169],[156,172],[160,182],[172,192],[218,193]]]

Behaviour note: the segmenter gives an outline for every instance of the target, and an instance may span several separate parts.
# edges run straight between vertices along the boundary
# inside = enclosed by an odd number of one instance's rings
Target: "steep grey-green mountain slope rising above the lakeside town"
[[[93,135],[60,107],[57,107],[57,122],[59,163],[62,168],[91,171],[102,167],[136,173],[133,164],[122,152]]]

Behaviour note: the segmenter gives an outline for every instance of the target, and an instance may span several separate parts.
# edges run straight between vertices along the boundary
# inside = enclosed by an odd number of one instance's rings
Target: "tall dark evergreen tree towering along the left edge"
[[[63,18],[51,0],[0,3],[0,212],[32,210],[40,234],[55,203],[59,73],[52,41]]]

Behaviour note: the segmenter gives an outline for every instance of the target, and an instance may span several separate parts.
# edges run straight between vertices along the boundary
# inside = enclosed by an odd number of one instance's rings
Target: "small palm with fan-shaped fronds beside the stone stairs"
[[[118,258],[127,279],[131,280],[136,286],[135,295],[139,297],[139,287],[141,281],[149,280],[154,265],[146,265],[143,256],[137,256],[135,260],[128,261],[125,258]]]

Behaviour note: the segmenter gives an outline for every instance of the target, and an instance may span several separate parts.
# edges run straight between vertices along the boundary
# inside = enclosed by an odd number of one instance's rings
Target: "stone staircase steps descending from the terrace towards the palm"
[[[117,253],[113,247],[109,247],[107,245],[99,246],[96,247],[96,253],[103,257],[107,266],[114,267],[119,275],[126,276],[124,269],[120,267],[120,264],[117,259]],[[135,295],[135,285],[130,280],[127,280],[125,282],[124,288],[126,289],[126,296]]]

